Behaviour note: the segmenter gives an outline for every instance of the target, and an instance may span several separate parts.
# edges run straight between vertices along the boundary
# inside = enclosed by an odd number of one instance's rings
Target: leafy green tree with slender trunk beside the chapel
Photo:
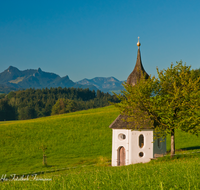
[[[198,135],[200,126],[200,77],[190,66],[177,62],[166,70],[157,69],[158,78],[143,76],[135,86],[124,84],[116,106],[121,114],[134,121],[131,129],[148,122],[156,138],[171,135],[171,157],[175,154],[175,130]]]

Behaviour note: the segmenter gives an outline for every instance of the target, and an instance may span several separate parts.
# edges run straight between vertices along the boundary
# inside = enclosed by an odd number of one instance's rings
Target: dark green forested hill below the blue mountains
[[[46,88],[12,91],[0,96],[0,120],[32,119],[118,102],[114,95],[80,88]]]

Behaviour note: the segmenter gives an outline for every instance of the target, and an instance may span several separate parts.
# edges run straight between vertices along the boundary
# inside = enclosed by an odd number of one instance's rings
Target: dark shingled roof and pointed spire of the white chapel
[[[140,55],[140,47],[138,46],[138,53],[137,53],[137,60],[136,60],[135,68],[133,69],[132,73],[129,75],[129,77],[127,79],[127,83],[134,86],[137,83],[137,81],[140,80],[142,74],[145,76],[145,78],[149,77],[149,75],[144,70],[144,67],[142,65],[142,60],[141,60],[141,55]],[[123,121],[123,120],[126,120],[126,118],[127,118],[127,116],[125,116],[125,115],[119,115],[109,127],[112,129],[128,129],[128,128],[130,128],[130,125],[134,125],[134,122],[129,124],[128,122]],[[152,128],[152,126],[150,126],[148,124],[148,122],[146,122],[143,126],[141,126],[141,128],[142,129],[150,129],[150,128]]]

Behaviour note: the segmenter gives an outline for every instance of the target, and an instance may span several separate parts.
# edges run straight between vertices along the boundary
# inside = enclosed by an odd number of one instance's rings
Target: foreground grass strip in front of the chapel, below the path
[[[123,167],[92,167],[45,174],[51,181],[8,181],[1,189],[199,189],[199,154]]]

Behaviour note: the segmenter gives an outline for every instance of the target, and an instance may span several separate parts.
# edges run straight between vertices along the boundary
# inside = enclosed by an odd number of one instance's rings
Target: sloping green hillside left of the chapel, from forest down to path
[[[109,125],[117,115],[116,108],[105,107],[0,122],[0,174],[43,170],[42,145],[47,147],[47,163],[53,169],[95,163],[98,156],[110,159]]]

